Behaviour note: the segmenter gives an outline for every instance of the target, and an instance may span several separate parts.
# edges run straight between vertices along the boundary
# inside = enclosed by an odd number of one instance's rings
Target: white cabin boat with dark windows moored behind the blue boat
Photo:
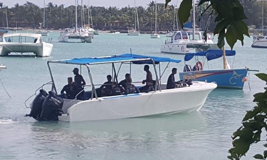
[[[171,39],[165,40],[165,43],[161,46],[161,52],[186,54],[218,49],[217,44],[213,43],[211,35],[207,34],[207,36],[207,41],[205,41],[202,32],[195,32],[195,40],[193,40],[193,32],[176,31]]]

